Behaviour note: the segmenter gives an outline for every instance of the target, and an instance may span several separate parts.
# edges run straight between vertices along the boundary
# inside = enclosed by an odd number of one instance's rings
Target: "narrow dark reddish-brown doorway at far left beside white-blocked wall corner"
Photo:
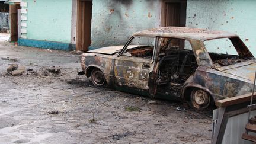
[[[18,9],[20,5],[10,5],[9,12],[11,17],[11,41],[18,40]]]

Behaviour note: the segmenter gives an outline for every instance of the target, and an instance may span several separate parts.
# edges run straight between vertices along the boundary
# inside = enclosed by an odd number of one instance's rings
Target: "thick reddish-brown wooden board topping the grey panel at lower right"
[[[215,101],[217,107],[228,107],[230,105],[241,104],[251,101],[252,94],[245,94],[231,98],[225,98],[223,100]],[[256,94],[254,94],[254,100],[256,100]]]

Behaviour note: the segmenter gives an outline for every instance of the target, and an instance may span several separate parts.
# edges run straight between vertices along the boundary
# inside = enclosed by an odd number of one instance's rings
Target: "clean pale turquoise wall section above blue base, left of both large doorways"
[[[71,0],[25,0],[27,39],[71,43]]]

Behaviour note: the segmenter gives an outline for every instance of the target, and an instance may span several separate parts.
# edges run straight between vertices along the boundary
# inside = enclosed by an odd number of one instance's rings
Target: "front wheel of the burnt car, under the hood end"
[[[103,86],[105,84],[105,76],[104,73],[100,71],[100,69],[93,69],[91,72],[91,81],[97,87]]]

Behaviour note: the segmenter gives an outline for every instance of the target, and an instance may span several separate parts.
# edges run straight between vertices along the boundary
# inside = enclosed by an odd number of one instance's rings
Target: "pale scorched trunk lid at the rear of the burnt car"
[[[249,60],[248,62],[238,63],[238,65],[226,66],[226,68],[223,68],[220,71],[248,79],[253,82],[256,71],[256,62],[255,60]]]

